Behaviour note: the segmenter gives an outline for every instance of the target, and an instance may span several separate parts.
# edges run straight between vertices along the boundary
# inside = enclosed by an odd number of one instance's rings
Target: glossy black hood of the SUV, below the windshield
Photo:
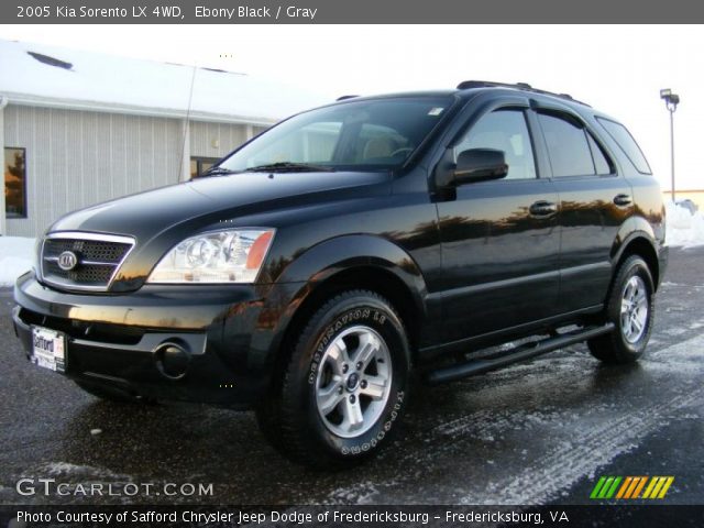
[[[246,227],[242,217],[389,193],[389,173],[241,173],[210,176],[127,196],[66,215],[51,232],[128,235],[135,248],[112,290],[141,286],[158,260],[180,240],[218,227]],[[261,222],[261,220],[260,220]],[[250,227],[267,227],[263,224]],[[274,226],[275,227],[275,226]]]

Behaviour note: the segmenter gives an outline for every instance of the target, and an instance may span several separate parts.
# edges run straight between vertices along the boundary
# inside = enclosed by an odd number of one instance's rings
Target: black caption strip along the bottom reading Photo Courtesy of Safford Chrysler
[[[696,527],[704,506],[0,506],[2,527]]]

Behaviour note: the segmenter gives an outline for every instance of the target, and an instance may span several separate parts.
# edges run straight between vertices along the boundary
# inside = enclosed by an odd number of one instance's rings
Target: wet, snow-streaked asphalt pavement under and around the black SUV
[[[29,364],[3,289],[0,504],[588,504],[603,475],[671,475],[664,503],[704,504],[703,300],[704,249],[672,250],[637,365],[579,344],[418,387],[378,458],[319,473],[278,455],[251,413],[108,404]]]

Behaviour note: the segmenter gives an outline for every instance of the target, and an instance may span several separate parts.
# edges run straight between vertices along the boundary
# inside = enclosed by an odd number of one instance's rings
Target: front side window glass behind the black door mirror
[[[506,179],[536,177],[530,134],[520,110],[496,110],[483,116],[454,147],[454,160],[470,148],[504,151],[508,165]]]

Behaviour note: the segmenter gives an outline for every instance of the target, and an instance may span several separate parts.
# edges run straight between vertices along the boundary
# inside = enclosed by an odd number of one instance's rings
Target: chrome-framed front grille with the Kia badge
[[[42,245],[42,278],[67,289],[105,292],[134,241],[128,237],[98,233],[51,233]],[[63,253],[70,252],[77,263],[70,270],[59,266]]]

